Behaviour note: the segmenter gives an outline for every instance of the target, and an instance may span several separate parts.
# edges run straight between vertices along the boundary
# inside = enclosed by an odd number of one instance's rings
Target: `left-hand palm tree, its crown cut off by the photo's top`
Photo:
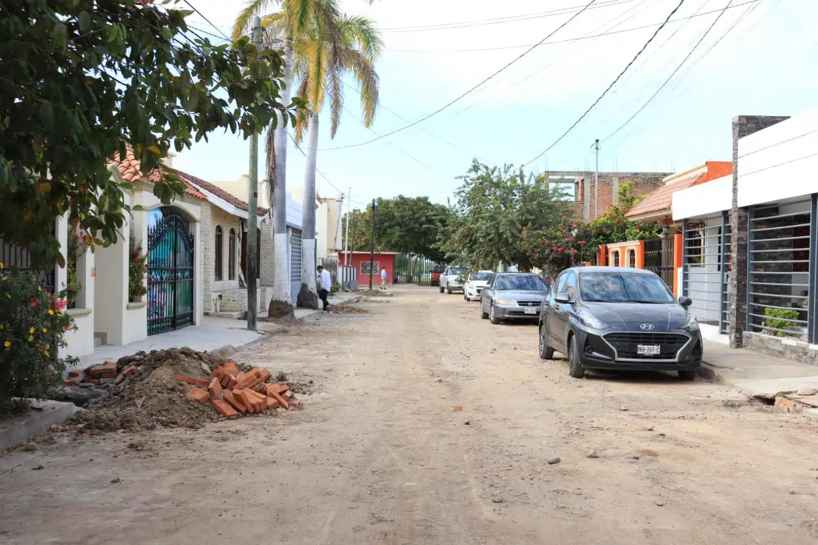
[[[372,3],[374,0],[366,0]],[[262,15],[271,7],[281,7],[283,20],[281,28],[283,38],[281,46],[284,51],[284,81],[285,90],[282,94],[285,99],[290,98],[293,68],[293,42],[296,36],[308,32],[311,22],[316,18],[326,32],[337,35],[334,29],[338,20],[337,6],[334,0],[251,0],[247,7],[240,12],[233,25],[233,39],[236,40],[247,34],[253,17]],[[316,131],[317,132],[317,131]],[[273,238],[275,255],[273,268],[276,279],[290,278],[290,260],[286,253],[286,163],[287,163],[287,132],[282,123],[267,130],[267,187],[270,194],[270,210],[273,216]],[[306,191],[305,191],[306,193]],[[314,239],[314,235],[313,235]],[[290,297],[288,282],[279,282],[273,285],[272,300],[268,315],[292,315],[292,297]]]

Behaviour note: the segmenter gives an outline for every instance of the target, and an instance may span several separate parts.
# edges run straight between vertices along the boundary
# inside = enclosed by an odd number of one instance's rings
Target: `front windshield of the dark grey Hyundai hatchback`
[[[579,293],[583,301],[672,303],[662,279],[654,275],[619,272],[593,272],[579,275]]]

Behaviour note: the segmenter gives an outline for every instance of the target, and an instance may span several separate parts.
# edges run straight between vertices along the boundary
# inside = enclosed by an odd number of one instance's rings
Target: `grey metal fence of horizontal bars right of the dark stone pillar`
[[[815,342],[816,195],[748,212],[747,330]]]

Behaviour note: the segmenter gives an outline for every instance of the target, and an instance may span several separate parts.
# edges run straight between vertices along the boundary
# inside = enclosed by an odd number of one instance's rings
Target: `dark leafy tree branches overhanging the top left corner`
[[[0,238],[65,265],[52,234],[69,212],[96,244],[124,226],[106,159],[133,146],[142,172],[217,128],[245,138],[281,114],[281,57],[246,39],[191,38],[190,12],[134,0],[20,0],[0,11]],[[287,101],[289,103],[289,101]],[[298,106],[296,104],[295,106]],[[281,123],[283,124],[283,123]],[[161,170],[164,203],[184,185]],[[126,234],[127,235],[127,234]]]

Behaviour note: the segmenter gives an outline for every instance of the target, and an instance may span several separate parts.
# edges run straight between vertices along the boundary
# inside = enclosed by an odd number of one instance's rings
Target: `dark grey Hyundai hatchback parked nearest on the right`
[[[557,277],[540,315],[539,352],[586,369],[676,371],[693,380],[702,363],[699,323],[688,297],[673,298],[649,270],[575,267]]]

